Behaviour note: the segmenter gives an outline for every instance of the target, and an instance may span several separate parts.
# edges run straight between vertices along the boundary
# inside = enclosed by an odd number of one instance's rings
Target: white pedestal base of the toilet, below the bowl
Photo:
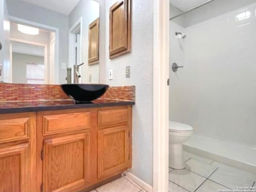
[[[184,169],[183,144],[169,145],[169,167],[173,169]]]

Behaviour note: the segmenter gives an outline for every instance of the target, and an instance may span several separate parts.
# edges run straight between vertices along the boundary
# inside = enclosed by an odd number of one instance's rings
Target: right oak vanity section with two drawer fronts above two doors
[[[43,192],[86,191],[131,167],[131,106],[38,112],[37,124]]]

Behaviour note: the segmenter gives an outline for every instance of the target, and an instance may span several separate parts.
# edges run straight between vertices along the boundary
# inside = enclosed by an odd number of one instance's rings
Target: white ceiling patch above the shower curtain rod
[[[187,11],[208,0],[170,0],[170,4],[177,7],[179,10]]]

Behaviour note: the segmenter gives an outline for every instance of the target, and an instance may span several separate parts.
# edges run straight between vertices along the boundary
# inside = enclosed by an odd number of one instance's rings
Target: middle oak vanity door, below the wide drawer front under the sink
[[[44,192],[67,192],[89,182],[89,132],[44,140]]]

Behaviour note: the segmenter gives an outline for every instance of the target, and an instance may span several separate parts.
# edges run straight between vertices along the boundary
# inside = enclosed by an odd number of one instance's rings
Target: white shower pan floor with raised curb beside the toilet
[[[256,174],[256,146],[193,134],[184,150]]]

